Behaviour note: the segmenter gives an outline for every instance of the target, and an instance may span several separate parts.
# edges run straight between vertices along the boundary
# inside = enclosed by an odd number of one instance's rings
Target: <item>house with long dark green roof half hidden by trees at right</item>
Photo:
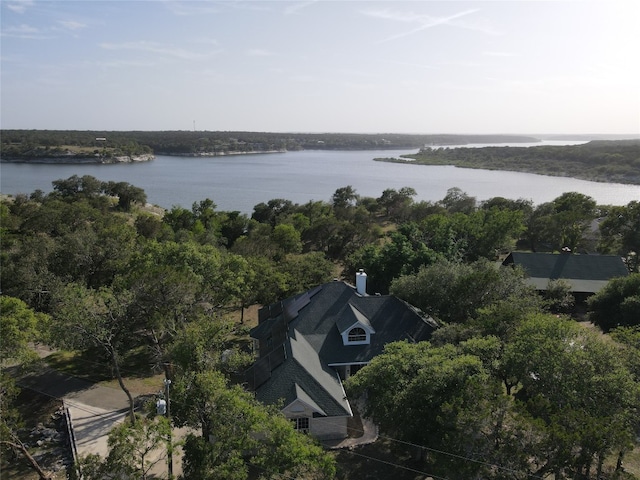
[[[629,274],[616,255],[512,252],[502,264],[521,266],[529,283],[539,291],[545,291],[551,280],[566,280],[576,300],[599,292],[612,278]]]

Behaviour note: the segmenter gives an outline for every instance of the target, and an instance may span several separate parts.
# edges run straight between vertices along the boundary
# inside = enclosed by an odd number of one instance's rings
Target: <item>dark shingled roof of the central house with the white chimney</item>
[[[356,322],[375,331],[369,345],[343,345],[340,329]],[[263,311],[251,336],[280,338],[279,331],[286,328],[284,344],[274,343],[274,352],[284,347],[285,355],[271,361],[269,352],[261,352],[248,372],[253,376],[249,383],[265,403],[283,400],[288,405],[299,398],[328,416],[350,415],[340,379],[330,366],[368,363],[387,343],[427,340],[436,326],[396,297],[362,296],[344,282],[326,283]],[[261,361],[270,361],[272,367],[256,375]],[[257,377],[261,380],[255,381]]]

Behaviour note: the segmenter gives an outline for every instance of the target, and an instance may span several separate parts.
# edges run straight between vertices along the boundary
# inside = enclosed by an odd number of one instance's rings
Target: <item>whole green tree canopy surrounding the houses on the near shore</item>
[[[102,349],[98,358],[114,371],[133,348],[153,353],[145,361],[173,381],[175,423],[204,434],[185,445],[190,478],[331,476],[333,463],[314,442],[230,386],[250,358],[247,326],[225,315],[296,295],[341,268],[349,280],[364,268],[370,293],[390,290],[443,325],[430,344],[389,347],[350,387],[369,390],[370,412],[421,446],[428,471],[578,478],[633,445],[637,274],[612,281],[589,304],[591,320],[613,331],[607,346],[541,316],[549,304],[496,259],[523,240],[542,250],[596,248],[596,216],[600,248],[633,258],[637,202],[596,206],[573,192],[534,209],[502,198],[478,204],[452,189],[441,202],[414,203],[410,189],[363,198],[347,186],[329,202],[274,199],[250,219],[217,211],[209,199],[164,213],[138,201],[118,205],[117,192],[92,177],[55,185],[0,203],[6,352],[33,339],[35,319],[50,324],[55,345]],[[556,287],[547,300],[561,313],[566,288]],[[265,443],[249,435],[256,430]]]

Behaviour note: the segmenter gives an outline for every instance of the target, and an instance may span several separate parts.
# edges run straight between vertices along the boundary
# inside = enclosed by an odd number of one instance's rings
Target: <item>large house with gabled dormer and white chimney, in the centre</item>
[[[342,382],[382,353],[387,343],[427,340],[436,322],[394,296],[366,294],[360,271],[354,288],[325,283],[260,310],[251,330],[258,360],[247,382],[266,404],[320,439],[347,436],[353,416]]]

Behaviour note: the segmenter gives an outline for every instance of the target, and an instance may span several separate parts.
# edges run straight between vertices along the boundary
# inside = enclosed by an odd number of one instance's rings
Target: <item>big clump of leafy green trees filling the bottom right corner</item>
[[[435,475],[590,478],[633,445],[640,384],[625,362],[595,332],[531,314],[506,341],[387,345],[346,386]],[[503,388],[505,372],[517,388]]]

